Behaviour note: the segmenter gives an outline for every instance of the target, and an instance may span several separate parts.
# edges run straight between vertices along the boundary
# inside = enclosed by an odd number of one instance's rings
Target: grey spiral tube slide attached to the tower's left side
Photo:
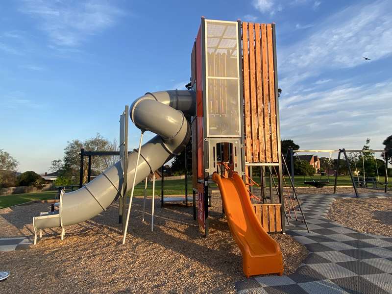
[[[147,93],[136,99],[130,107],[130,117],[142,131],[157,134],[141,148],[136,184],[150,172],[156,171],[174,155],[179,154],[190,139],[190,126],[186,117],[194,115],[193,91],[161,91]],[[128,155],[128,183],[133,182],[137,152]],[[123,185],[122,162],[119,161],[97,178],[80,188],[66,193],[60,204],[61,225],[86,221],[98,215],[115,201]],[[131,185],[128,185],[131,189]],[[34,229],[59,227],[59,218],[33,218]]]

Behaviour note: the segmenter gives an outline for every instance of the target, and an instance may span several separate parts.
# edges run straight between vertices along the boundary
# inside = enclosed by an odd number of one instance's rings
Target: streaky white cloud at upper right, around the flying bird
[[[279,69],[283,76],[317,76],[328,69],[362,65],[362,56],[372,61],[392,54],[390,2],[377,1],[345,8],[329,17],[305,39],[279,49]],[[283,58],[282,58],[283,57]],[[297,78],[295,83],[305,78]]]

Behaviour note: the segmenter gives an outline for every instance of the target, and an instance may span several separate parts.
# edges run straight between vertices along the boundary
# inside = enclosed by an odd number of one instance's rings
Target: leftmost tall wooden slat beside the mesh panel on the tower
[[[252,136],[251,136],[251,117],[250,117],[250,97],[249,97],[249,54],[248,54],[248,24],[243,22],[243,56],[244,56],[244,99],[245,99],[245,145],[247,162],[252,160]]]

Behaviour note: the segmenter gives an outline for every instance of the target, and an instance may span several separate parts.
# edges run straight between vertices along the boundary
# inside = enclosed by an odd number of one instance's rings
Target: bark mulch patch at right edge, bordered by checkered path
[[[360,232],[392,236],[392,198],[338,199],[327,217]]]

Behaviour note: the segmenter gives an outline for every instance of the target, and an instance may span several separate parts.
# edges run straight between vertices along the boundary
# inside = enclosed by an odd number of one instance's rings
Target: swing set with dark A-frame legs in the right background
[[[340,159],[341,159],[341,155],[344,155],[344,162],[346,164],[348,173],[350,175],[350,179],[354,188],[354,192],[355,192],[355,196],[359,197],[358,194],[358,190],[357,188],[361,188],[361,187],[366,187],[366,188],[373,188],[373,189],[377,189],[377,184],[380,184],[383,186],[383,190],[385,193],[387,193],[388,190],[388,156],[385,153],[385,150],[372,150],[372,149],[349,149],[346,150],[345,148],[341,148],[338,150],[329,150],[329,149],[312,149],[312,150],[294,150],[293,148],[290,148],[288,150],[288,154],[290,154],[290,163],[291,163],[291,178],[292,178],[292,182],[294,183],[294,154],[297,153],[305,153],[305,152],[314,152],[314,153],[329,153],[329,161],[331,160],[331,155],[332,153],[338,153],[338,159],[337,159],[337,164],[335,166],[335,180],[334,180],[334,192],[333,194],[336,194],[336,189],[337,189],[337,183],[338,183],[338,175],[339,175],[339,168],[340,168]],[[355,165],[355,170],[356,173],[354,174],[351,170],[351,166],[350,166],[350,162],[349,162],[349,158],[347,156],[347,153],[373,153],[373,157],[374,157],[374,161],[376,164],[376,173],[377,173],[377,178],[375,177],[366,177],[365,174],[365,163],[364,163],[364,156],[362,156],[362,164],[363,164],[363,176],[359,176],[359,172],[357,169],[357,165],[356,162],[354,160],[354,165]],[[375,153],[382,153],[384,155],[384,165],[385,165],[385,178],[384,178],[384,183],[382,183],[380,181],[380,176],[378,173],[378,166],[377,166],[377,159],[375,156]],[[287,157],[287,156],[286,156]],[[328,162],[329,163],[329,162]],[[290,174],[290,173],[289,173]],[[312,180],[311,181],[304,181],[304,184],[308,184],[308,185],[312,185],[316,188],[321,188],[326,186],[327,184],[329,184],[329,172],[328,172],[328,178],[325,179],[321,179],[319,178],[318,180]],[[373,187],[368,187],[368,183],[371,183]]]

